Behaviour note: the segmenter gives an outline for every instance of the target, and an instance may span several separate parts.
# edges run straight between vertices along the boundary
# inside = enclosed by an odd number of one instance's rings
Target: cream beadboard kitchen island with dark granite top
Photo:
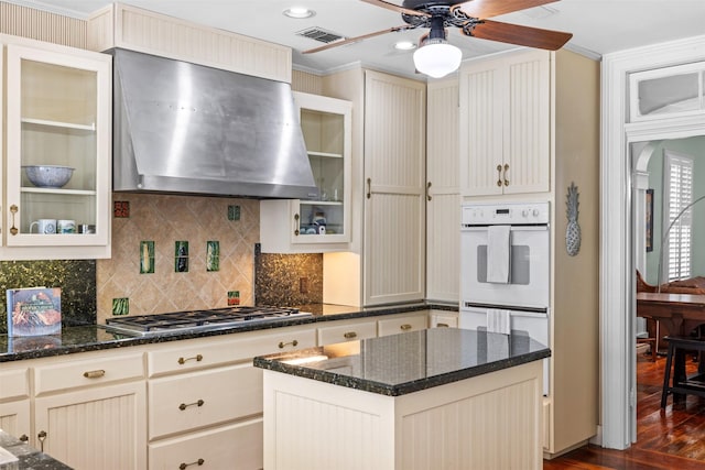
[[[523,331],[438,328],[254,358],[264,468],[540,469],[550,354]]]

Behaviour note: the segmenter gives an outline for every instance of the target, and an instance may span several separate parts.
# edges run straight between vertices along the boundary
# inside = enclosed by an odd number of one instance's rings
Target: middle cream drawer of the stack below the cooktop
[[[150,439],[262,413],[262,370],[251,364],[149,383]]]

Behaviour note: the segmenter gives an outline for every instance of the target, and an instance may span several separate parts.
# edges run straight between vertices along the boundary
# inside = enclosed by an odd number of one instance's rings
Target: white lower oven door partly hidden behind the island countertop
[[[497,307],[502,309],[502,307]],[[488,310],[490,308],[460,308],[458,326],[465,329],[488,330]],[[509,310],[512,331],[525,331],[530,338],[551,347],[549,331],[549,311]],[[491,330],[491,328],[489,328]],[[549,395],[549,368],[551,358],[543,360],[543,394]]]

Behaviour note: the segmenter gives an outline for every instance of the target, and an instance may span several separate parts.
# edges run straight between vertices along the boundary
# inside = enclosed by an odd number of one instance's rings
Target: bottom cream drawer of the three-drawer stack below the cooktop
[[[263,466],[262,418],[149,446],[150,469],[252,470]],[[202,461],[202,463],[199,463]],[[189,463],[195,463],[188,467]]]

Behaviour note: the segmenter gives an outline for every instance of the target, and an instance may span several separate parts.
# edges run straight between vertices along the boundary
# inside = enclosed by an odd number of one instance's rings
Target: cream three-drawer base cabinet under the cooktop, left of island
[[[262,371],[252,358],[314,346],[315,328],[297,326],[150,350],[149,468],[262,468]]]

